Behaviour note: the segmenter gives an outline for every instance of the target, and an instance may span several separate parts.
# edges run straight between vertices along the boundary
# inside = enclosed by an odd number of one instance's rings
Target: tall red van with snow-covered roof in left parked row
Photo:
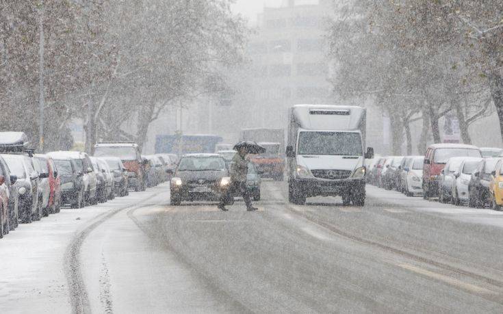
[[[146,189],[146,164],[134,142],[101,142],[94,148],[95,157],[119,157],[127,169],[129,187],[136,192]]]

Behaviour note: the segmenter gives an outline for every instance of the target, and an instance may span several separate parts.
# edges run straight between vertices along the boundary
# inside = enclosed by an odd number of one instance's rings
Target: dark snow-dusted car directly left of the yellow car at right
[[[501,158],[483,158],[478,163],[476,171],[470,177],[468,185],[469,207],[482,208],[489,202],[489,184],[492,180],[492,172],[496,163]]]

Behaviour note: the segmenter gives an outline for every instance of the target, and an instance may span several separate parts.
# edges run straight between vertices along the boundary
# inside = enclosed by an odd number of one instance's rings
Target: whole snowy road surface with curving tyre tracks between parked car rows
[[[503,311],[503,212],[367,187],[169,206],[168,185],[64,209],[0,241],[0,313]],[[78,218],[78,219],[77,219]]]

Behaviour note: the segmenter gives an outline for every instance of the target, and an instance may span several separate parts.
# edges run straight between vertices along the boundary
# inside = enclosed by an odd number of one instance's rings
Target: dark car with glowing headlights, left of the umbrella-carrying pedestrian
[[[183,200],[219,200],[231,179],[224,157],[218,154],[183,155],[171,179],[171,205]]]

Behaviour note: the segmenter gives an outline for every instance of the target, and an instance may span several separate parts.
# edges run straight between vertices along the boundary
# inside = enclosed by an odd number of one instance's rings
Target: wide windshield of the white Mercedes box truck
[[[350,132],[300,132],[298,154],[361,156],[361,137]]]

